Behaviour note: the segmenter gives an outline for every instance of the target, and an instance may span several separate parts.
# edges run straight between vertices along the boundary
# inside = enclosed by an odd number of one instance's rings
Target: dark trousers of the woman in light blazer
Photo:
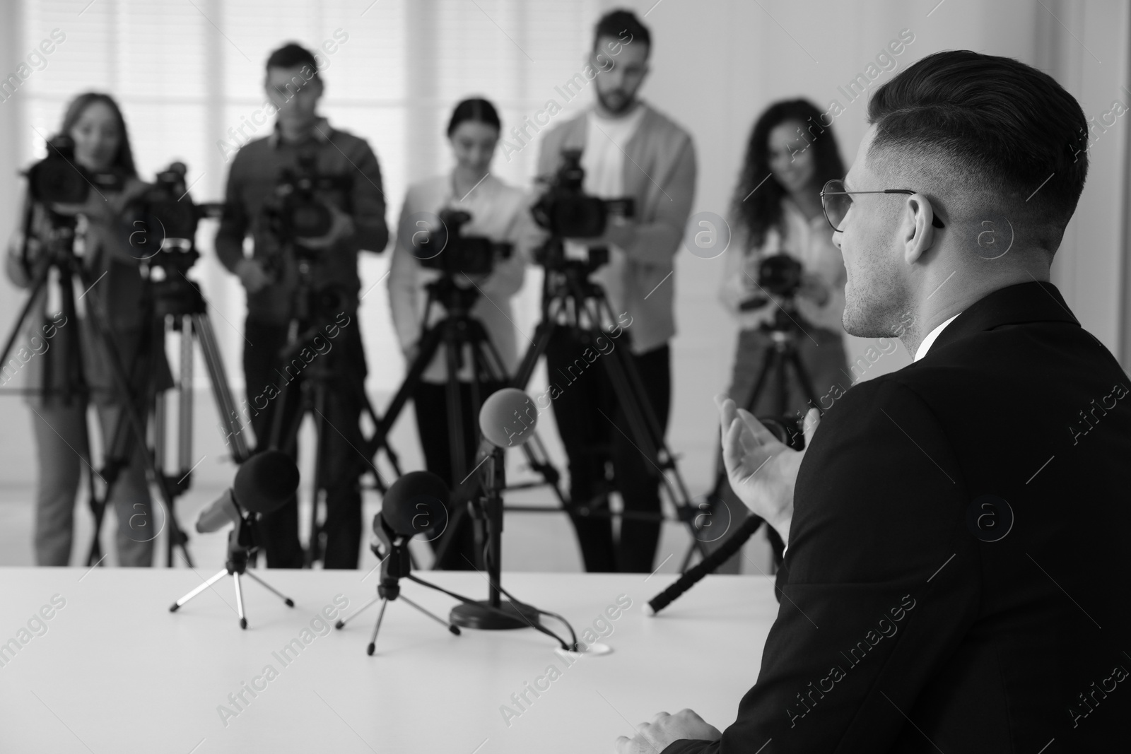
[[[480,385],[480,404],[492,392],[506,387],[502,382],[487,382]],[[413,405],[416,410],[416,432],[420,434],[421,448],[424,450],[424,466],[429,471],[444,480],[449,489],[454,489],[475,467],[475,451],[480,444],[478,410],[472,405],[472,385],[459,383],[459,405],[463,421],[464,462],[463,473],[456,478],[451,462],[451,433],[449,431],[449,413],[447,384],[421,382],[413,392]],[[466,503],[465,503],[466,505]],[[454,521],[455,510],[448,509],[448,523],[444,530],[431,540],[433,552],[441,540],[451,537],[451,544],[443,557],[437,561],[437,569],[447,571],[467,571],[475,567],[475,527],[472,517],[465,513],[459,523]]]

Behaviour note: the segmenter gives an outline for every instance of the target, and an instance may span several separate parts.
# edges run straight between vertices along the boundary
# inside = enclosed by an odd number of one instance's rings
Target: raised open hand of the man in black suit
[[[782,541],[788,543],[793,489],[805,451],[793,450],[780,442],[750,411],[739,408],[729,398],[716,396],[715,404],[723,436],[723,463],[731,488],[746,508],[777,530]],[[815,408],[805,414],[806,450],[820,416]]]

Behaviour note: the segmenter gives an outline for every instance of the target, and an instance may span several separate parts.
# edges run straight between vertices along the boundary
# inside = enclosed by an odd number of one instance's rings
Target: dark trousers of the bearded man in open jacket
[[[615,341],[616,349],[631,356],[644,383],[644,396],[661,431],[667,432],[672,397],[672,365],[668,346],[636,355],[629,350],[628,333]],[[595,511],[608,510],[608,492],[621,494],[625,511],[656,513],[659,505],[659,469],[637,448],[632,431],[608,379],[606,359],[619,355],[599,354],[589,363],[587,346],[567,329],[558,329],[546,346],[551,385],[560,395],[553,399],[554,419],[569,457],[570,500],[588,503]],[[596,349],[589,350],[590,356]],[[556,391],[555,391],[556,392]],[[552,393],[553,395],[553,393]],[[623,518],[620,537],[613,539],[612,519],[602,515],[571,515],[585,569],[649,573],[659,543],[659,520]]]

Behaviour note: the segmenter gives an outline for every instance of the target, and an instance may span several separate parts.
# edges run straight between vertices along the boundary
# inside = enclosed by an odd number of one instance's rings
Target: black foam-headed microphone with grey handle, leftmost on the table
[[[240,509],[273,513],[299,488],[299,467],[283,452],[267,450],[240,465],[232,486],[197,518],[197,531],[218,531],[240,520]]]

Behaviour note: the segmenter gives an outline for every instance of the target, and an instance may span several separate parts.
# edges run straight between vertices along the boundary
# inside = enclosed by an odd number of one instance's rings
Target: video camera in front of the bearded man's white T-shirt
[[[580,149],[562,149],[562,164],[549,190],[530,208],[535,222],[556,239],[594,239],[605,232],[610,217],[632,217],[630,198],[601,199],[585,193]]]

